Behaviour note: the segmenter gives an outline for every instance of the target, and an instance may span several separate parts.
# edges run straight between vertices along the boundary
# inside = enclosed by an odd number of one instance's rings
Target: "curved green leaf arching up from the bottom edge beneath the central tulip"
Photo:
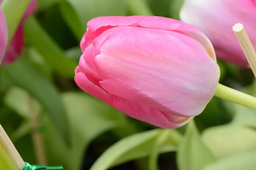
[[[162,134],[163,130],[156,129],[123,138],[108,148],[90,170],[107,170],[109,167],[149,156],[156,139]],[[160,147],[160,153],[174,151],[180,142],[180,134],[175,130],[167,130],[164,134],[169,134],[169,137]]]

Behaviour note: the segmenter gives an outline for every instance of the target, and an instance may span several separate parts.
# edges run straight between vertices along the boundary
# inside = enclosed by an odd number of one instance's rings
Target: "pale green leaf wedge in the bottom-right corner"
[[[204,167],[203,170],[255,170],[256,150],[219,159]]]

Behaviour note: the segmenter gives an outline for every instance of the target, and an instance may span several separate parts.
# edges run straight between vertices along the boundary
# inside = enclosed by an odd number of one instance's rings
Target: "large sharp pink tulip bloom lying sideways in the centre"
[[[176,128],[200,114],[220,76],[208,38],[165,17],[97,17],[87,23],[76,84],[132,118]]]

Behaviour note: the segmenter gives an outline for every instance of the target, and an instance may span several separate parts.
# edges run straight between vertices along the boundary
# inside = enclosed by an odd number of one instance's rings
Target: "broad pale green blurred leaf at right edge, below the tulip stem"
[[[202,139],[216,158],[256,147],[256,131],[233,124],[208,128],[203,132]]]

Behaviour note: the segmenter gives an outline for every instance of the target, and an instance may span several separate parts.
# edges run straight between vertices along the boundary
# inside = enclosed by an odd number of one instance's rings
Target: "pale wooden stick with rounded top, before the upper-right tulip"
[[[237,40],[241,48],[243,49],[244,55],[246,56],[250,67],[256,77],[256,52],[253,49],[253,44],[251,43],[243,24],[237,23],[233,26],[233,32],[236,35]]]

